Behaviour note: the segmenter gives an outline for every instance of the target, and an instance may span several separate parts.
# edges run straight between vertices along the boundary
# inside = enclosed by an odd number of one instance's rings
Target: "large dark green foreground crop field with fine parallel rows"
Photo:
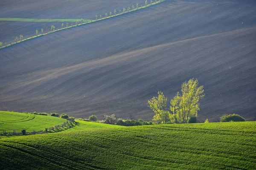
[[[7,169],[17,160],[17,169],[47,169],[47,161],[52,169],[253,170],[256,122],[84,129],[1,139],[0,147]]]

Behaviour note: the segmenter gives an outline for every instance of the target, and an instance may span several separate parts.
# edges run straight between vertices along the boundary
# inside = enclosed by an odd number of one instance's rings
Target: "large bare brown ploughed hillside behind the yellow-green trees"
[[[168,1],[0,51],[0,108],[151,119],[147,100],[205,86],[202,119],[256,119],[255,3]],[[14,105],[15,104],[15,105]]]

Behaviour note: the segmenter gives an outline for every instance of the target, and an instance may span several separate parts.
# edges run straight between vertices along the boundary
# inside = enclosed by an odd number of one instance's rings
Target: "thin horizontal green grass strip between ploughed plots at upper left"
[[[0,21],[18,21],[18,22],[76,22],[77,20],[80,21],[81,19],[0,18]]]

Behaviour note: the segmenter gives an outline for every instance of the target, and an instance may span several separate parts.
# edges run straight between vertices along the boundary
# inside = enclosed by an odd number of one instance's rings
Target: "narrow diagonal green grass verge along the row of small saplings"
[[[13,42],[13,43],[8,44],[8,45],[3,45],[3,46],[0,47],[0,49],[9,47],[9,46],[11,46],[11,45],[15,45],[15,44],[20,43],[20,42],[23,42],[23,41],[31,40],[31,39],[33,39],[33,38],[37,38],[37,37],[40,37],[40,36],[43,36],[43,35],[51,34],[51,33],[54,33],[54,32],[56,32],[56,31],[61,31],[61,30],[64,30],[64,29],[73,28],[73,27],[76,27],[76,26],[84,25],[84,24],[94,23],[94,22],[98,22],[98,21],[101,21],[101,20],[106,20],[106,19],[109,19],[109,18],[112,18],[112,17],[117,17],[117,16],[119,16],[119,15],[127,14],[127,13],[129,13],[129,12],[137,11],[137,10],[140,10],[140,9],[143,9],[143,8],[148,8],[148,7],[150,7],[150,6],[157,5],[157,4],[162,3],[162,2],[164,2],[164,1],[166,1],[166,0],[158,0],[158,1],[156,1],[156,2],[153,2],[153,3],[151,3],[151,4],[148,4],[147,6],[141,6],[141,7],[138,7],[138,8],[134,8],[133,10],[130,10],[130,11],[124,11],[124,12],[121,12],[120,14],[114,14],[114,15],[111,15],[111,16],[108,16],[108,17],[103,17],[103,18],[98,19],[98,20],[85,20],[84,23],[80,23],[80,24],[77,24],[77,25],[75,25],[75,26],[68,26],[68,27],[65,27],[65,28],[60,28],[60,29],[58,29],[58,30],[49,31],[49,32],[44,33],[44,34],[38,34],[37,36],[25,38],[25,39],[23,39],[23,40],[19,40],[19,41],[17,41],[17,42]],[[18,18],[16,18],[16,19],[18,19]],[[42,19],[42,20],[44,20],[44,19]],[[79,20],[79,21],[80,21],[80,20]],[[30,21],[30,22],[35,22],[35,21]],[[45,21],[41,21],[41,22],[45,22]],[[61,21],[60,21],[60,22],[61,22]],[[38,30],[38,32],[39,32],[39,31],[40,31],[40,30]]]

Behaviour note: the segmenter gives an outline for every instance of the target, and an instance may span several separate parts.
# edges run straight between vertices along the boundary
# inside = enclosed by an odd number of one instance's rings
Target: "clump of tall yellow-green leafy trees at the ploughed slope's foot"
[[[204,86],[198,87],[198,79],[190,79],[181,85],[181,94],[177,92],[167,106],[167,97],[158,91],[157,97],[148,100],[148,107],[155,113],[153,121],[166,123],[187,123],[191,117],[197,117],[199,100],[204,97]]]

